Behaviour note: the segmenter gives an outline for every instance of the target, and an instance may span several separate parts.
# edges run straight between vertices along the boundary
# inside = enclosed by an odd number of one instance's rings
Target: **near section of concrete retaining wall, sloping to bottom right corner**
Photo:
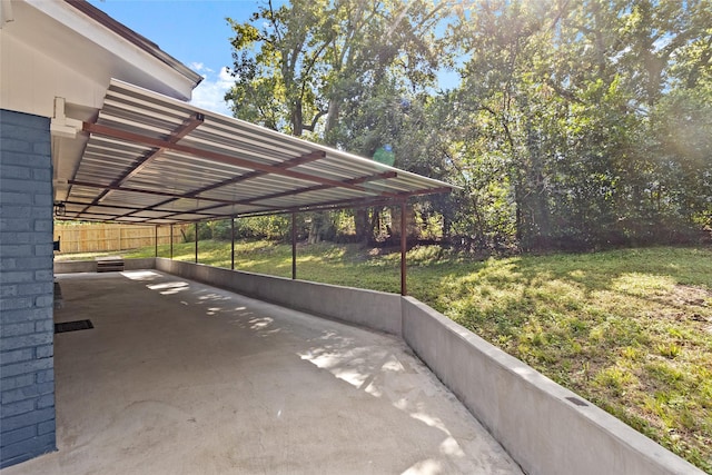
[[[403,337],[530,475],[703,475],[412,297]]]

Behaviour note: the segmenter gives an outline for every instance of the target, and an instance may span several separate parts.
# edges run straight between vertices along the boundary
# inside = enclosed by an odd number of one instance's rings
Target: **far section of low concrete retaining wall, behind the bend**
[[[158,270],[400,336],[400,296],[156,258]]]

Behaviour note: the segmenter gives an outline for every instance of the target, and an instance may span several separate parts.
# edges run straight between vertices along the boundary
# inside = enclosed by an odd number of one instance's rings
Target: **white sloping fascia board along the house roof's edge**
[[[199,82],[184,72],[151,56],[126,38],[82,13],[65,1],[24,0],[32,8],[55,19],[81,37],[151,76],[176,92],[176,98],[189,100]],[[196,77],[199,77],[197,73]]]

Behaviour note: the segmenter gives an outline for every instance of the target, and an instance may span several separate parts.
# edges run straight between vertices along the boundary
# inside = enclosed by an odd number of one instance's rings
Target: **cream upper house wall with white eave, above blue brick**
[[[190,99],[200,80],[198,73],[186,77],[185,71],[141,50],[72,3],[12,2],[14,19],[0,28],[3,109],[52,117],[55,97],[99,109],[111,78]]]

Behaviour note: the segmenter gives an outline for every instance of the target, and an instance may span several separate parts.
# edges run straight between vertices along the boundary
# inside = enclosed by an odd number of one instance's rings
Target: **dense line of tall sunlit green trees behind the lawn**
[[[709,239],[709,0],[294,0],[229,21],[236,117],[461,186],[417,204],[433,236]],[[387,215],[308,232],[374,239]]]

